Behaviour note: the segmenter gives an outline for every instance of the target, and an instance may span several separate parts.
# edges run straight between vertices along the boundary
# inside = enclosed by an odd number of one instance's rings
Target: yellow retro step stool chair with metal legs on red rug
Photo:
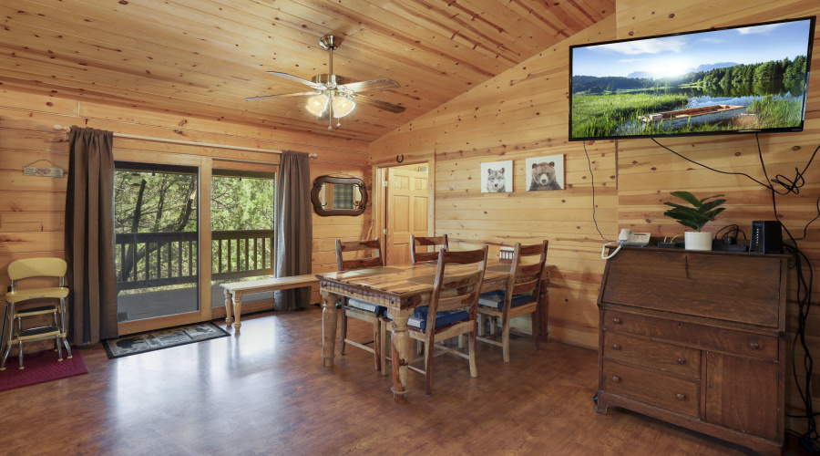
[[[66,272],[68,265],[60,258],[27,258],[16,260],[8,265],[8,276],[11,279],[8,293],[5,294],[5,314],[3,316],[3,328],[0,331],[0,351],[3,351],[3,361],[0,362],[0,370],[5,370],[5,360],[11,351],[11,347],[17,344],[20,347],[19,368],[23,368],[23,342],[55,339],[55,349],[58,360],[63,360],[63,350],[61,343],[66,346],[68,358],[72,358],[71,347],[68,345],[66,337],[66,297],[68,288],[66,285]],[[46,288],[18,289],[17,281],[31,277],[59,277],[60,285]],[[59,299],[58,304],[30,307],[26,306],[26,301],[40,300],[44,298]],[[9,313],[9,310],[11,312]],[[54,325],[37,326],[23,328],[23,319],[30,316],[41,316],[51,314],[54,316]],[[57,315],[59,314],[59,316]],[[17,322],[15,328],[15,320]],[[5,326],[8,326],[9,337],[5,340]],[[2,344],[7,346],[3,350]]]

